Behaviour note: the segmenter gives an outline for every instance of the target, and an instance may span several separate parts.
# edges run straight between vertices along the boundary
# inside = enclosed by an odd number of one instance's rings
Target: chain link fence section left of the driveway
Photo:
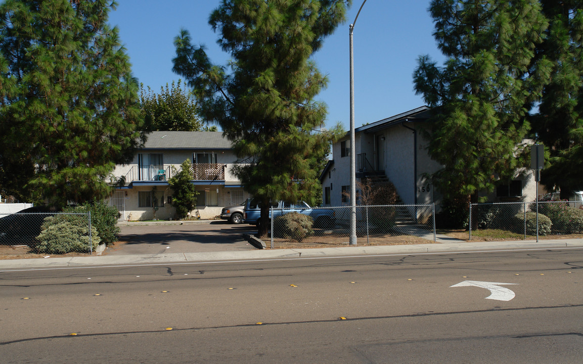
[[[0,214],[0,248],[36,254],[92,253],[99,242],[91,212]]]

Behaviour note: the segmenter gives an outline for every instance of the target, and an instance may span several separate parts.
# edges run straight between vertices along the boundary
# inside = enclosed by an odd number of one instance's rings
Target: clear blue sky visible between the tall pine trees
[[[367,0],[354,27],[354,124],[363,124],[423,106],[415,95],[412,74],[419,55],[429,54],[442,63],[427,12],[430,0]],[[318,100],[328,105],[326,125],[350,122],[349,24],[362,0],[354,0],[347,22],[313,55],[328,88]],[[215,64],[226,65],[229,55],[216,44],[217,33],[208,24],[219,0],[118,0],[110,24],[120,29],[122,44],[131,58],[134,76],[159,92],[160,86],[177,81],[172,72],[174,37],[181,28],[195,44],[207,47]]]

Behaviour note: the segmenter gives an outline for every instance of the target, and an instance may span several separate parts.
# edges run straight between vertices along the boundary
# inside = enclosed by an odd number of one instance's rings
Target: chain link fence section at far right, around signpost
[[[538,205],[538,216],[537,216]],[[583,233],[583,209],[576,201],[470,204],[469,238],[480,230],[501,230],[522,239]]]

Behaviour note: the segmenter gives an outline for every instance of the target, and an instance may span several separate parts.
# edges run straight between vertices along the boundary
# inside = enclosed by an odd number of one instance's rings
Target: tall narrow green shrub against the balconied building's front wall
[[[174,170],[174,176],[168,180],[168,185],[174,191],[172,205],[176,208],[176,217],[184,219],[187,213],[195,208],[198,192],[196,192],[194,184],[191,182],[194,180],[194,175],[192,174],[192,162],[190,159],[182,162],[180,168],[178,173]]]

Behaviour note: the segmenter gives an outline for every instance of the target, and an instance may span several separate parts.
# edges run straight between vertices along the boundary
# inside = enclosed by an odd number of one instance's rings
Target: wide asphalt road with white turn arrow
[[[580,363],[582,267],[573,249],[5,271],[0,358]]]

